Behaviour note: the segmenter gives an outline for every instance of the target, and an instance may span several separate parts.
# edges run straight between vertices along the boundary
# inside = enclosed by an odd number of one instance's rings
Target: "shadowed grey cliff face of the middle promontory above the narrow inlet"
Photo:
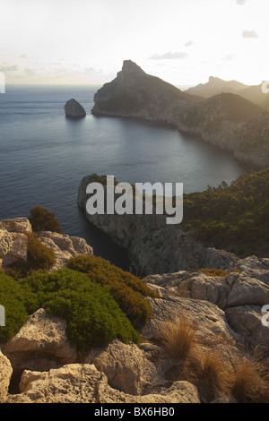
[[[90,215],[86,211],[89,198],[86,187],[90,182],[91,176],[82,178],[78,206],[93,225],[129,251],[134,266],[143,274],[201,267],[222,268],[227,263],[236,261],[232,254],[206,248],[188,237],[180,228],[167,225],[164,215]]]

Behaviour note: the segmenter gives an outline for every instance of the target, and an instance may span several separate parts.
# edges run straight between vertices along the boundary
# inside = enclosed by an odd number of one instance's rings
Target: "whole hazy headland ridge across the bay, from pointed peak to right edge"
[[[125,61],[117,78],[94,96],[91,112],[99,116],[138,117],[195,133],[255,167],[269,165],[269,114],[234,93],[209,99],[178,90]]]

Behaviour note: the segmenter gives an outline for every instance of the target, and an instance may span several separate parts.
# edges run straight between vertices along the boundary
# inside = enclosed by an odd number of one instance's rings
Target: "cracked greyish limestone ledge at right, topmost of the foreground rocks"
[[[229,264],[223,277],[208,276],[201,271],[178,271],[150,275],[144,280],[151,286],[157,285],[162,296],[184,295],[209,301],[225,310],[238,305],[268,304],[268,277],[269,267],[251,256]]]

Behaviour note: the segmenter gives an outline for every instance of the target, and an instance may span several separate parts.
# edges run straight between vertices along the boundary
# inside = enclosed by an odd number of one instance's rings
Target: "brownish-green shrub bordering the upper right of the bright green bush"
[[[89,279],[108,288],[117,304],[136,329],[144,326],[152,316],[152,307],[144,296],[158,296],[143,279],[123,271],[94,255],[73,257],[67,267],[86,273]]]

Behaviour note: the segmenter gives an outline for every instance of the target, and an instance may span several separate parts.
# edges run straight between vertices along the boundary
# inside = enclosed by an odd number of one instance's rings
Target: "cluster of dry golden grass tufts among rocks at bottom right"
[[[197,337],[198,326],[184,314],[160,326],[159,340],[170,357],[177,358],[178,380],[192,382],[200,397],[212,402],[221,395],[239,403],[269,403],[269,363],[256,351],[238,349],[230,360],[223,347],[235,349],[233,340],[216,336],[212,341]],[[218,349],[218,347],[221,347]],[[175,379],[173,379],[175,381]]]

